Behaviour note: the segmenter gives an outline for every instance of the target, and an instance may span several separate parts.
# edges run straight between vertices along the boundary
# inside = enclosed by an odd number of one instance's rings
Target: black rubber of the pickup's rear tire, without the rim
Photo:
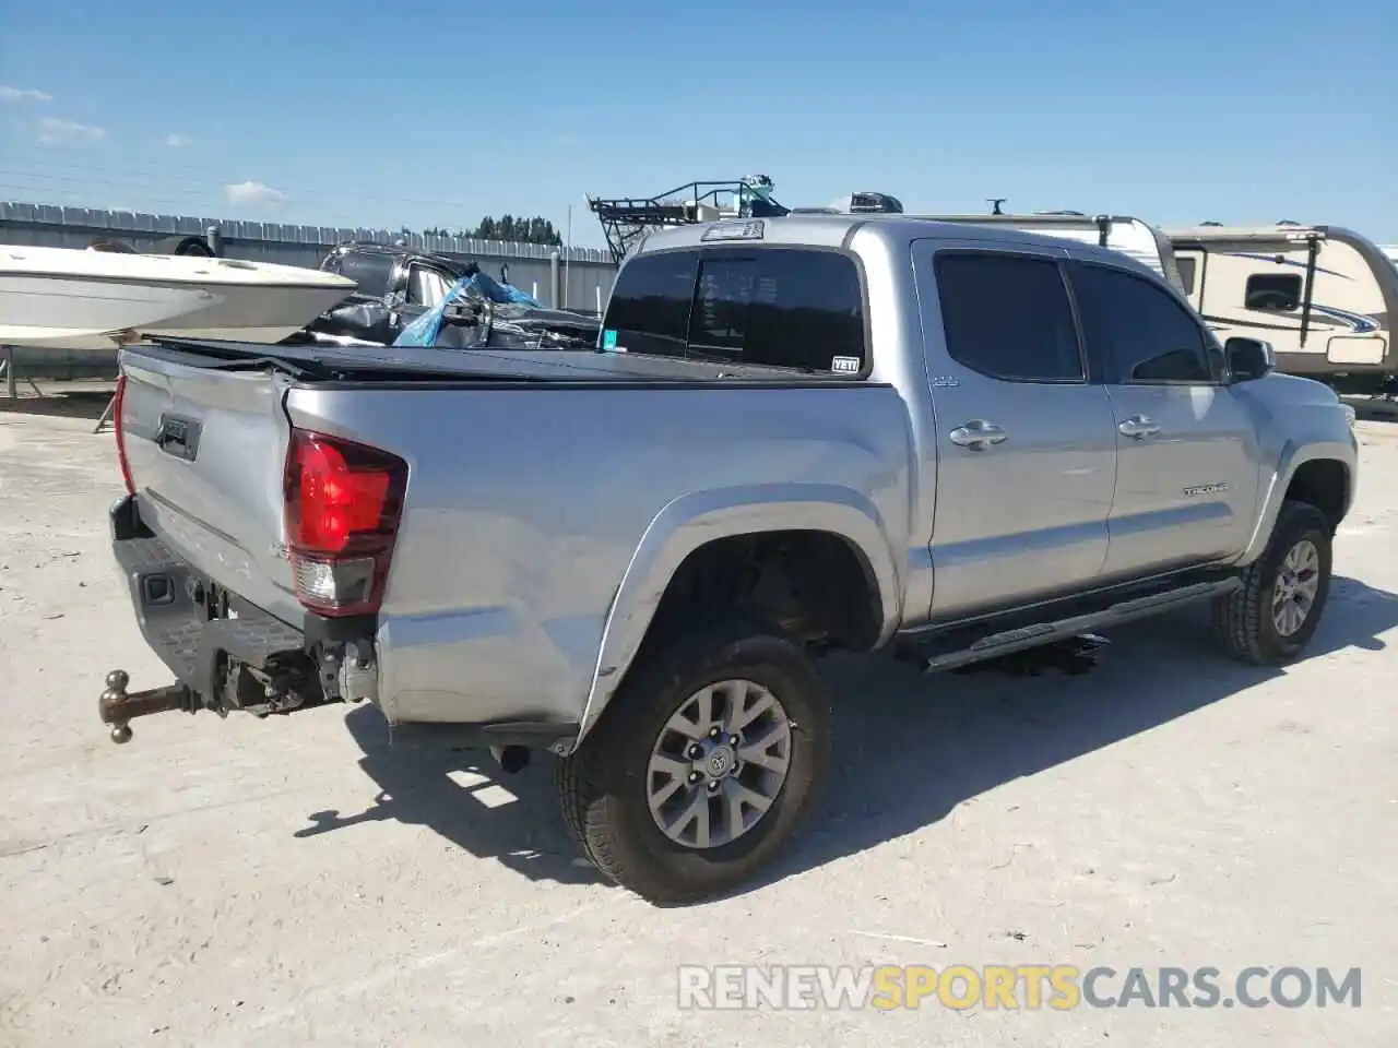
[[[665,722],[706,685],[742,678],[776,696],[791,731],[786,781],[762,819],[726,845],[667,837],[647,802],[647,763]],[[656,904],[696,903],[751,880],[795,834],[830,763],[830,706],[807,653],[747,618],[643,653],[601,721],[559,762],[563,820],[610,880]]]

